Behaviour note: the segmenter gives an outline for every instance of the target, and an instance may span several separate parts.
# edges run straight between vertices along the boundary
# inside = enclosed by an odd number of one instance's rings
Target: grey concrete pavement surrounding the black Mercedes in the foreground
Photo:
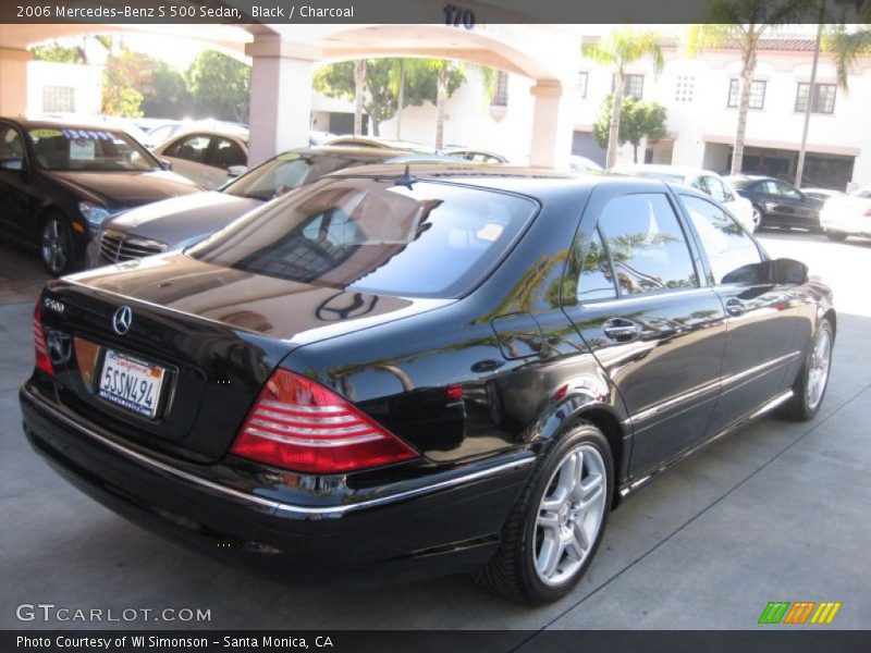
[[[773,256],[810,262],[834,288],[838,336],[821,415],[800,424],[764,419],[670,472],[612,515],[577,590],[537,609],[465,577],[352,591],[283,587],[170,544],[72,490],[29,451],[17,407],[44,276],[33,257],[0,245],[0,627],[119,626],[15,617],[22,603],[53,603],[115,615],[210,611],[210,621],[185,627],[746,629],[769,601],[838,601],[835,627],[867,628],[871,242],[798,233],[762,241]]]

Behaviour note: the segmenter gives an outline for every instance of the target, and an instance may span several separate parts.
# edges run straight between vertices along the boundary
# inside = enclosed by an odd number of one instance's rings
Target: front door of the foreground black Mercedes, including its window
[[[678,196],[728,316],[722,391],[708,427],[714,434],[787,389],[801,316],[794,288],[769,281],[763,255],[732,215],[708,199]]]

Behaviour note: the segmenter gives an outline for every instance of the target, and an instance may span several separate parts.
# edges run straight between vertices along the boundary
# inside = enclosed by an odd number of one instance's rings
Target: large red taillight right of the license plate
[[[287,370],[257,397],[232,453],[307,473],[339,473],[417,457],[351,403]]]

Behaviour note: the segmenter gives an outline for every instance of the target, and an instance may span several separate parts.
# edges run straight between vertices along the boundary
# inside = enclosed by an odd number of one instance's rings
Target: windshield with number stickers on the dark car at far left
[[[27,131],[36,159],[46,170],[142,172],[160,165],[122,132],[81,127],[34,127]]]

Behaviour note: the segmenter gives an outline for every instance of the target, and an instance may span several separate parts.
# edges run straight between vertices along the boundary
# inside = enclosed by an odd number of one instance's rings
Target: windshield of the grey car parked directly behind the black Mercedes
[[[295,152],[286,152],[279,155],[262,165],[258,165],[247,174],[229,183],[221,190],[237,197],[267,201],[335,170],[361,165],[366,162],[348,157],[330,155],[302,156]]]

